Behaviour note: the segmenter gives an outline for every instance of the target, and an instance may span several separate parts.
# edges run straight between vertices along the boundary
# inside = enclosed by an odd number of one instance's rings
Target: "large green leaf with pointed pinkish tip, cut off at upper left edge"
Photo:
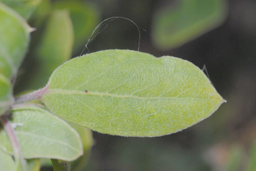
[[[27,51],[31,28],[14,10],[2,3],[0,21],[0,73],[11,79]]]

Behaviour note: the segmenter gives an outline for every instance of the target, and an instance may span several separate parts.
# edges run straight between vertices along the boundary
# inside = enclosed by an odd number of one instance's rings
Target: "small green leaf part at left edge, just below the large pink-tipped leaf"
[[[0,73],[0,115],[6,112],[13,104],[14,98],[10,81]]]

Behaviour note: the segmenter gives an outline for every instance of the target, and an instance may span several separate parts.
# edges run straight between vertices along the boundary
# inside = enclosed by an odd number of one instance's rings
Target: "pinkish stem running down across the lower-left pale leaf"
[[[19,146],[19,142],[18,142],[16,133],[15,133],[13,127],[12,127],[11,122],[5,116],[1,116],[0,121],[3,125],[3,127],[4,127],[4,130],[6,131],[8,137],[10,139],[11,144],[12,144],[13,155],[14,155],[15,162],[17,163],[18,161],[20,161],[23,170],[24,171],[27,170],[26,161],[25,161],[25,159],[22,155],[22,152],[21,152],[21,149],[20,149],[20,146]]]

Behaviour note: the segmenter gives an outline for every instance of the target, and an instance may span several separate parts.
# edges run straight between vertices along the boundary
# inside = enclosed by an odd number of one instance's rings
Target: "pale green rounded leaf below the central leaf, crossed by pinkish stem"
[[[78,133],[66,122],[48,111],[31,105],[14,106],[13,123],[25,158],[56,158],[72,161],[82,155]],[[0,147],[12,154],[4,131],[0,132]]]

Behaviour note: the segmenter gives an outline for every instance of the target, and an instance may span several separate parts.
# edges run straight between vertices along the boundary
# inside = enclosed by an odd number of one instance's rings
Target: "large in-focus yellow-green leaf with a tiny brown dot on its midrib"
[[[209,117],[225,101],[194,64],[171,56],[105,50],[71,59],[41,97],[58,117],[123,136],[160,136]]]

